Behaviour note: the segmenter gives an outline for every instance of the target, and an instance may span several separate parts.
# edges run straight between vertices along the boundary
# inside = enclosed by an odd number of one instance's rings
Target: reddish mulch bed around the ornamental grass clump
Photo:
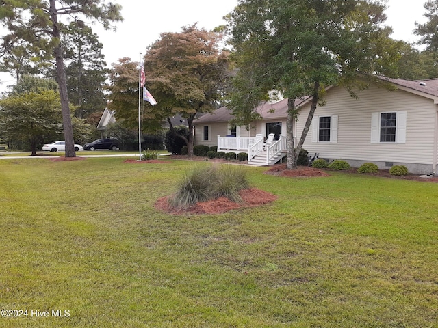
[[[276,200],[276,195],[267,193],[257,188],[244,189],[240,191],[240,197],[242,197],[243,203],[231,202],[227,197],[220,197],[216,200],[210,200],[208,202],[200,202],[187,210],[175,210],[170,208],[168,204],[168,197],[162,197],[155,202],[155,208],[162,212],[183,215],[183,214],[218,214],[228,212],[229,210],[235,210],[237,208],[247,208],[260,206],[262,204],[268,204]]]

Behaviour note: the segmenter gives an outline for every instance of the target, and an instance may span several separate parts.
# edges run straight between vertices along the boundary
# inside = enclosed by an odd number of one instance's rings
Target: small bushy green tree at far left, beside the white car
[[[62,132],[59,93],[40,90],[0,100],[0,131],[5,139],[28,142],[36,156],[38,143]]]

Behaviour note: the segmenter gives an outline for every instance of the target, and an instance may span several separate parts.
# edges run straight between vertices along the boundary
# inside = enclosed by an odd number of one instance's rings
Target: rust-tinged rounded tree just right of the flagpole
[[[170,131],[183,139],[193,156],[193,120],[198,113],[214,111],[227,80],[229,51],[219,49],[222,33],[183,27],[181,33],[162,33],[144,56],[146,84],[157,100],[151,107],[155,118],[166,118]],[[189,135],[178,133],[170,118],[187,119]]]

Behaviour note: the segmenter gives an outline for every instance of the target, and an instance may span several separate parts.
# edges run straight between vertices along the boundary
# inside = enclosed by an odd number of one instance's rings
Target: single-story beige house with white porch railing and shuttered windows
[[[407,81],[383,78],[396,87],[389,91],[384,87],[370,85],[355,99],[343,87],[329,87],[324,100],[326,105],[318,107],[303,145],[310,154],[333,161],[342,159],[359,167],[373,162],[381,169],[393,165],[405,165],[409,172],[430,174],[436,172],[438,161],[438,79]],[[311,98],[298,100],[301,107],[298,121],[294,124],[294,137],[298,141],[307,120]],[[222,107],[204,115],[194,122],[195,144],[218,146],[223,151],[246,151],[250,153],[260,138],[276,133],[279,149],[271,152],[270,160],[257,151],[265,165],[278,161],[285,152],[287,100],[275,104],[263,103],[256,109],[262,120],[253,122],[249,131],[242,127],[229,126],[232,116]],[[223,140],[236,139],[223,144]],[[258,135],[258,137],[257,137]],[[248,149],[244,142],[248,139]],[[225,145],[225,147],[224,147]],[[239,146],[244,145],[244,146]],[[240,149],[233,149],[233,147]],[[280,149],[281,148],[281,149]],[[269,150],[268,150],[269,151]],[[274,155],[275,153],[275,155]],[[259,154],[255,155],[257,159]],[[251,161],[251,160],[250,160]]]

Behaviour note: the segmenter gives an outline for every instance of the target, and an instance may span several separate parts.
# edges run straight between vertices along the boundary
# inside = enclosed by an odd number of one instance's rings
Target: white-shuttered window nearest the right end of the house
[[[371,143],[406,143],[407,111],[371,114]]]

